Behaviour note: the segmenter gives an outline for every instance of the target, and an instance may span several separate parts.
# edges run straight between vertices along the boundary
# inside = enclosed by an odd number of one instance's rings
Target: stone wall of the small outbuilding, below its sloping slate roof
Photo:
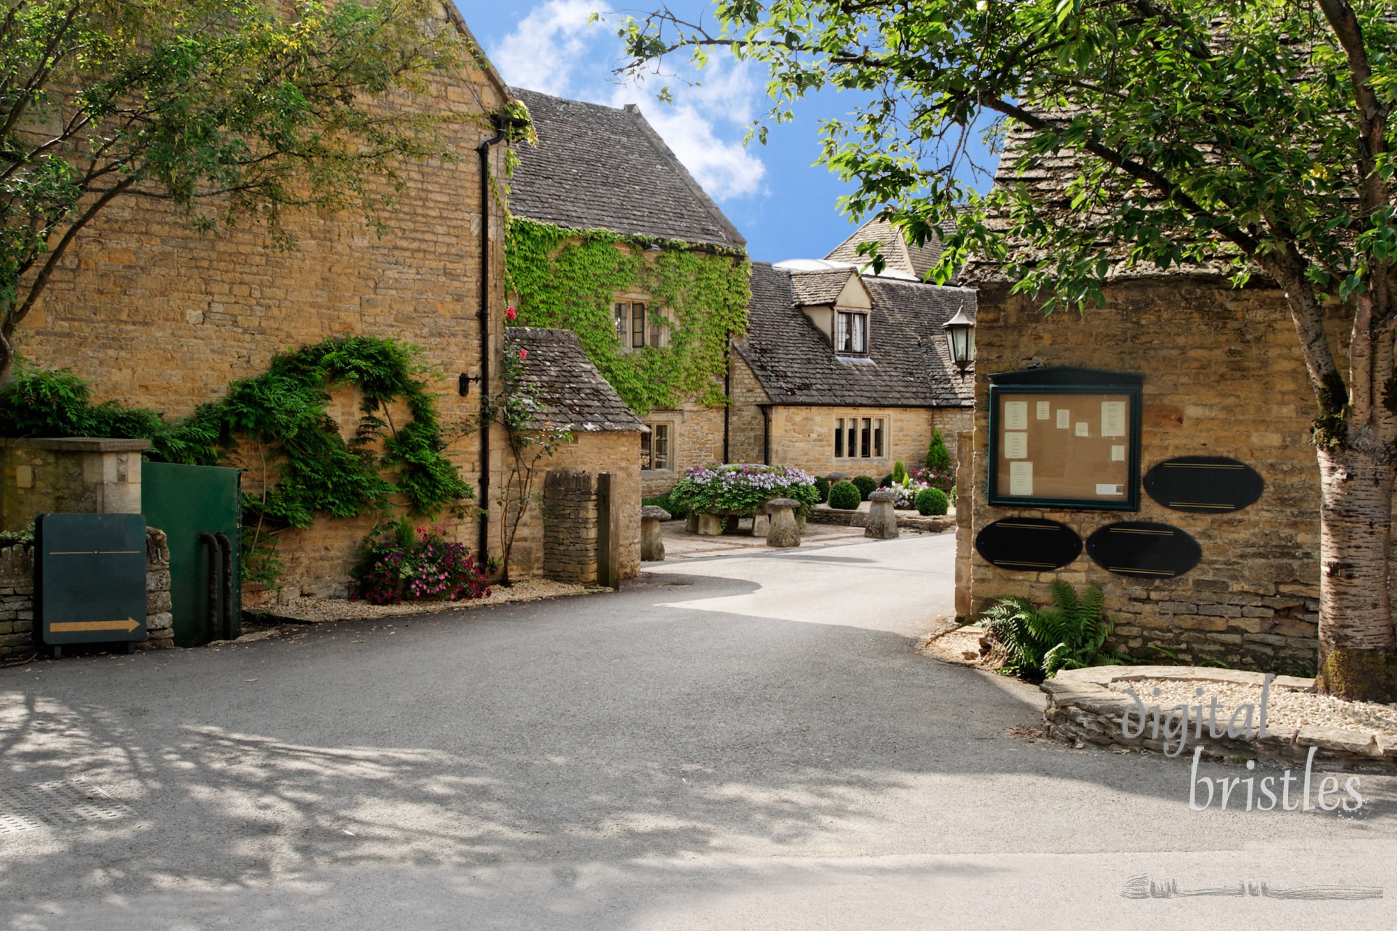
[[[531,507],[520,521],[518,534],[514,538],[514,551],[510,555],[510,573],[515,577],[545,575],[549,579],[557,577],[550,573],[549,554],[570,552],[576,545],[591,547],[597,544],[595,517],[595,489],[592,495],[592,517],[584,524],[588,530],[581,533],[580,541],[570,534],[573,523],[549,523],[548,519],[548,485],[545,475],[557,472],[560,475],[574,475],[585,472],[595,482],[598,472],[613,472],[616,488],[620,496],[620,577],[634,579],[640,575],[640,433],[634,431],[615,431],[605,433],[576,433],[576,442],[560,449],[552,459],[542,460],[536,478],[536,491],[542,493],[541,507]],[[560,481],[560,479],[559,479]],[[590,544],[587,541],[591,541]],[[592,559],[595,562],[595,556]],[[597,572],[592,569],[592,580]]]

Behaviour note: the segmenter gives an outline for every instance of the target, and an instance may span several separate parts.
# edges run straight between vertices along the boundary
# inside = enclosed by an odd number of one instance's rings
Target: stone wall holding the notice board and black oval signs
[[[1268,287],[1169,277],[1115,284],[1104,309],[1044,316],[1004,288],[979,294],[977,322],[975,534],[1013,516],[1048,517],[1083,540],[1116,520],[1179,527],[1203,548],[1192,572],[1161,580],[1112,575],[1085,552],[1059,572],[1006,572],[974,551],[971,605],[1048,583],[1094,582],[1118,616],[1115,646],[1144,658],[1160,646],[1187,661],[1291,672],[1313,668],[1319,596],[1319,468],[1309,445],[1315,401],[1282,296]],[[1144,376],[1141,477],[1176,456],[1228,456],[1266,479],[1261,499],[1231,514],[1169,510],[1141,492],[1139,513],[989,507],[985,498],[992,372],[1032,363]]]

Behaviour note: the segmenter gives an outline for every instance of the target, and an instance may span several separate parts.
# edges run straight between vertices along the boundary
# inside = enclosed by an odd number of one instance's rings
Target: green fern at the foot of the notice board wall
[[[1053,582],[1051,589],[1051,608],[1037,609],[1011,596],[985,611],[985,628],[1004,650],[1000,671],[1039,682],[1059,670],[1120,664],[1119,657],[1102,651],[1115,619],[1101,614],[1101,589],[1087,586],[1081,597],[1065,582]]]

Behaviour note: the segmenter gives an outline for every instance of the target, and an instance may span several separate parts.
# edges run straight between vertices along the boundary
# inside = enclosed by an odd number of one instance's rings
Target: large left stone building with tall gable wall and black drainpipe
[[[454,4],[441,4],[440,15],[479,48]],[[407,187],[383,217],[386,235],[352,211],[288,215],[298,247],[281,252],[254,224],[201,233],[165,201],[120,199],[70,249],[17,333],[18,352],[71,369],[96,400],[179,417],[224,396],[231,382],[265,372],[288,348],[342,334],[395,337],[420,347],[433,366],[443,424],[467,422],[479,411],[481,390],[462,396],[458,375],[479,375],[482,340],[499,355],[504,310],[504,211],[493,197],[482,203],[476,151],[495,134],[490,115],[511,98],[483,56],[429,84],[430,108],[462,117],[444,130],[461,158],[402,168]],[[503,178],[504,147],[489,148],[488,161]],[[483,333],[482,280],[490,295]],[[485,387],[499,390],[499,366],[492,369]],[[356,407],[348,391],[335,401],[335,410]],[[499,481],[497,433],[489,463],[481,461],[476,436],[450,447],[469,482],[482,471]],[[374,520],[321,519],[312,530],[282,534],[288,589],[344,594]],[[455,521],[451,533],[474,548],[476,521]],[[497,538],[495,527],[489,535]]]

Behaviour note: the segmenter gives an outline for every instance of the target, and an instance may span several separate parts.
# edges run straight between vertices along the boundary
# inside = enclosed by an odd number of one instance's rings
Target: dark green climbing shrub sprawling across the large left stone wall
[[[166,424],[144,408],[94,405],[87,383],[70,372],[18,366],[14,383],[0,391],[0,435],[147,439],[151,459],[190,466],[218,464],[251,442],[256,459],[247,464],[260,470],[263,491],[243,495],[243,577],[271,584],[279,575],[274,538],[282,528],[310,527],[320,514],[387,512],[394,495],[423,516],[471,498],[444,454],[429,376],[420,351],[405,342],[331,338],[274,356],[264,375],[233,382],[221,400]],[[363,396],[348,442],[328,412],[331,389],[345,384]],[[405,424],[393,424],[395,403],[411,415]]]

